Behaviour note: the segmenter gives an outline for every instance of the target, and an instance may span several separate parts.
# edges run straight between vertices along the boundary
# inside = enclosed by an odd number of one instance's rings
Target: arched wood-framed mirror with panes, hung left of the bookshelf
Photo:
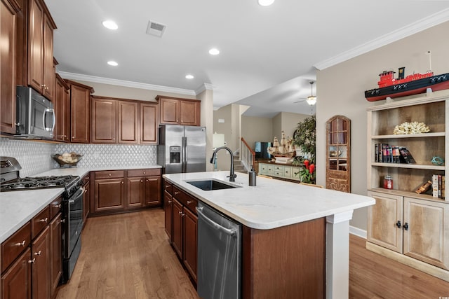
[[[345,116],[326,122],[326,188],[351,192],[351,120]]]

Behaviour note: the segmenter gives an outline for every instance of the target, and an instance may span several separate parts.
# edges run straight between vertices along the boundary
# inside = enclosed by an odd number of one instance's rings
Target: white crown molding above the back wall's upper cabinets
[[[62,78],[72,79],[72,80],[103,83],[103,84],[109,84],[109,85],[119,85],[119,86],[124,86],[124,87],[128,87],[128,88],[140,88],[140,89],[144,89],[144,90],[173,92],[173,93],[178,93],[180,95],[195,95],[195,96],[197,95],[194,90],[186,90],[186,89],[182,89],[182,88],[170,88],[168,86],[162,86],[162,85],[138,83],[138,82],[132,82],[132,81],[116,80],[116,79],[111,79],[111,78],[102,78],[102,77],[96,77],[96,76],[67,73],[65,71],[58,71],[58,74],[60,74],[60,76]]]

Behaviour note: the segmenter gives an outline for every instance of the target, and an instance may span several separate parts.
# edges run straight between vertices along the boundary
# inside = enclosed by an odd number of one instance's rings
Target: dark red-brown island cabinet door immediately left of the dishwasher
[[[184,208],[184,265],[196,282],[198,217]]]

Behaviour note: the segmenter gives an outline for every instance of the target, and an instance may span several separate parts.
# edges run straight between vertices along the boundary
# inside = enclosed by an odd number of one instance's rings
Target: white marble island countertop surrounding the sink
[[[248,186],[248,174],[241,173],[237,173],[233,183],[240,188],[205,191],[186,182],[217,179],[229,183],[227,175],[229,172],[192,172],[163,174],[163,177],[243,225],[262,230],[375,204],[372,197],[260,176],[257,176],[257,186]]]

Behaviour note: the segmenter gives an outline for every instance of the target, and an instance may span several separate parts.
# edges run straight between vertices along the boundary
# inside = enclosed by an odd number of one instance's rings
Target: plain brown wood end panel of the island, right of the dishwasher
[[[257,230],[243,225],[242,298],[325,298],[326,218]]]

